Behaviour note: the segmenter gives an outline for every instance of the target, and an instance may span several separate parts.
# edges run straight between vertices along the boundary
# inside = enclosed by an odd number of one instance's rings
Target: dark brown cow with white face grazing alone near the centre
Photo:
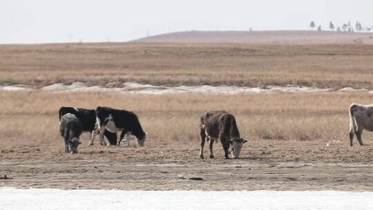
[[[220,140],[224,149],[224,159],[228,159],[228,150],[231,146],[232,158],[239,158],[242,145],[247,142],[240,137],[236,119],[226,111],[209,111],[200,116],[201,151],[203,157],[203,146],[205,140],[210,143],[210,158],[213,156],[213,142]]]

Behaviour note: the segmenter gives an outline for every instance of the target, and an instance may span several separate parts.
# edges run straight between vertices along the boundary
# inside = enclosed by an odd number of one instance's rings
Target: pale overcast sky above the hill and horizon
[[[307,30],[361,21],[372,0],[0,0],[0,44],[128,41],[182,30]]]

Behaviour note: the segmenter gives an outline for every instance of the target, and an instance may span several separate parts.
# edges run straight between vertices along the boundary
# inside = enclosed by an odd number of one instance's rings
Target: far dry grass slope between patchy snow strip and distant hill
[[[0,84],[373,88],[365,45],[48,44],[0,46]]]

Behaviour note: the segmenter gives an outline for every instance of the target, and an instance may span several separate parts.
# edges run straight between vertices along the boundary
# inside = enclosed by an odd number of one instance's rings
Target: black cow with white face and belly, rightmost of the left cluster
[[[125,135],[135,135],[137,144],[144,146],[146,133],[142,130],[142,126],[135,113],[125,110],[119,110],[108,107],[97,107],[96,109],[97,122],[99,122],[100,141],[103,139],[102,133],[108,130],[113,133],[122,132],[120,134],[117,145],[124,139]],[[126,139],[126,138],[125,138]],[[126,140],[128,143],[128,140]]]

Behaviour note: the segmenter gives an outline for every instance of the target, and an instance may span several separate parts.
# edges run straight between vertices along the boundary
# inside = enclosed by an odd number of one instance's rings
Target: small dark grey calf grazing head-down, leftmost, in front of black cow
[[[81,144],[82,122],[75,115],[67,113],[61,117],[59,131],[65,140],[65,153],[77,153],[77,147]]]

